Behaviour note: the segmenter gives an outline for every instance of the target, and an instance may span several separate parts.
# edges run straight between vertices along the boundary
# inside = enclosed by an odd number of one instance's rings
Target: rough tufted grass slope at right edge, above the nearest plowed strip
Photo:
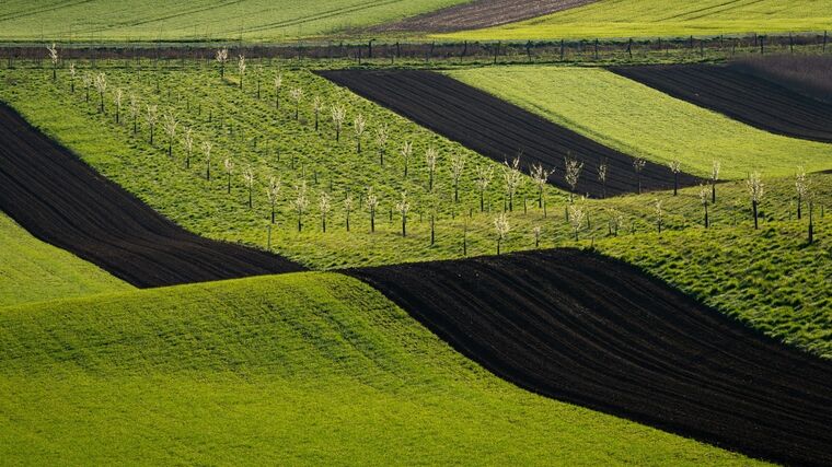
[[[730,221],[726,214],[717,220]],[[758,232],[693,227],[603,238],[594,246],[777,340],[832,359],[832,217],[816,214],[811,246],[806,231],[804,219],[766,223]]]

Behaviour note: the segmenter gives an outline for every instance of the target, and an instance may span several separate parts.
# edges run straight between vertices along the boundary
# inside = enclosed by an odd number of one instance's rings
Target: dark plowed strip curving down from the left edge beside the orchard
[[[0,210],[36,237],[137,287],[301,270],[186,232],[0,104]]]

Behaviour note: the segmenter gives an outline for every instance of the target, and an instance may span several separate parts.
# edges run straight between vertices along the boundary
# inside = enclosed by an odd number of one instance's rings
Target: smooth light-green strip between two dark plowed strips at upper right
[[[606,70],[494,68],[450,75],[513,102],[610,148],[708,176],[713,161],[727,178],[832,167],[832,145],[772,135],[671,97]]]

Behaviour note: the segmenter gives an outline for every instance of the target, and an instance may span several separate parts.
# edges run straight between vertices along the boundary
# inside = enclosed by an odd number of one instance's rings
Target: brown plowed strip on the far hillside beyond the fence
[[[407,17],[396,23],[381,24],[370,31],[449,33],[478,30],[569,10],[596,1],[598,0],[474,0]]]

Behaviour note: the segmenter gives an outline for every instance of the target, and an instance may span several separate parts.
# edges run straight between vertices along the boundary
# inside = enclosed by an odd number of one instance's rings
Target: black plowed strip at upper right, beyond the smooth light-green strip
[[[616,67],[622,77],[793,138],[832,142],[832,105],[732,68],[707,65]]]

